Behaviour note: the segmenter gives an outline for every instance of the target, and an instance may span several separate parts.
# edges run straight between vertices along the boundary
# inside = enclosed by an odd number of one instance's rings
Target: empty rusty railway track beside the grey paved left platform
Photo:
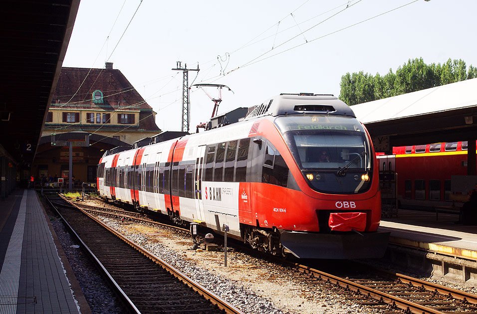
[[[58,213],[74,228],[131,313],[241,313],[92,215],[69,207]]]

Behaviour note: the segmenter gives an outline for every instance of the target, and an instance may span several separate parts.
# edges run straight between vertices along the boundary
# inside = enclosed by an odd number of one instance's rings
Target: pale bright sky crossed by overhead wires
[[[81,0],[63,66],[113,62],[157,113],[181,131],[183,73],[190,132],[219,114],[280,93],[339,96],[341,76],[396,71],[408,59],[477,66],[475,0]]]

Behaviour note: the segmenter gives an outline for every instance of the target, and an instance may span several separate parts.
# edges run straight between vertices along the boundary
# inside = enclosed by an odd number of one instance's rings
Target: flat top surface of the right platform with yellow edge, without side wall
[[[477,260],[477,226],[456,224],[457,214],[399,209],[379,230],[391,231],[390,243]]]

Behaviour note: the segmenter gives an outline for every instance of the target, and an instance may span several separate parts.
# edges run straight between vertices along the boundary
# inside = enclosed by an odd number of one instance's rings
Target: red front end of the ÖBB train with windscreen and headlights
[[[296,98],[293,112],[284,106],[273,120],[297,185],[281,199],[286,213],[272,213],[281,244],[299,258],[383,257],[389,232],[378,231],[379,168],[367,130],[336,98]]]

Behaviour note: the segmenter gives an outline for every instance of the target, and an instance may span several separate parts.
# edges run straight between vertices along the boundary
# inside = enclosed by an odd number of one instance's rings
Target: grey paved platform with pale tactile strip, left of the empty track
[[[32,189],[0,202],[0,313],[91,313]]]

